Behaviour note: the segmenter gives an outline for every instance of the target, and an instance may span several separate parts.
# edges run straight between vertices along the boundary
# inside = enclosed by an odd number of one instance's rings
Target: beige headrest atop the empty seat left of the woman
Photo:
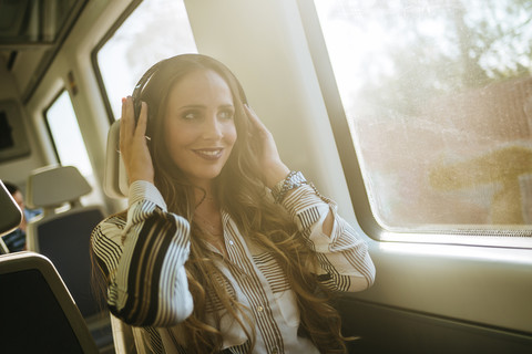
[[[27,205],[30,208],[57,208],[74,202],[92,187],[74,166],[49,166],[28,177]]]

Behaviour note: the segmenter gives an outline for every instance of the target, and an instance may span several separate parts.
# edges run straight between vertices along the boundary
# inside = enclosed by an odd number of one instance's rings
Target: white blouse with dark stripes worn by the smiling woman
[[[336,205],[304,185],[283,201],[308,244],[317,252],[318,279],[338,291],[370,287],[375,267],[367,244],[336,212]],[[323,222],[332,212],[334,227],[325,235]],[[226,277],[229,294],[255,324],[254,353],[318,353],[314,344],[297,335],[299,310],[287,278],[264,249],[241,235],[222,210],[227,257],[212,247],[215,266]],[[164,237],[162,237],[164,236]],[[108,304],[114,315],[134,326],[140,353],[185,353],[180,323],[193,311],[184,263],[188,258],[190,225],[168,212],[160,191],[147,181],[130,186],[127,220],[111,217],[92,233],[99,266],[110,279]],[[222,311],[209,303],[207,313]],[[223,347],[246,353],[243,329],[221,316]],[[214,322],[213,322],[214,324]]]

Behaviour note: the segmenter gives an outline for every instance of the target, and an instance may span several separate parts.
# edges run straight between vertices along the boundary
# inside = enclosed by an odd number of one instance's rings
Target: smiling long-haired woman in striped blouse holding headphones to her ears
[[[327,295],[371,285],[367,246],[280,160],[231,71],[174,56],[134,96],[139,122],[127,97],[120,127],[129,209],[92,247],[139,351],[345,352]]]

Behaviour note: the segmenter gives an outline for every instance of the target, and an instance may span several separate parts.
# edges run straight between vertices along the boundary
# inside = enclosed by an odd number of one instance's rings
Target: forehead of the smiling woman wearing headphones
[[[171,88],[173,100],[218,98],[233,102],[231,87],[217,72],[198,69],[185,74]]]

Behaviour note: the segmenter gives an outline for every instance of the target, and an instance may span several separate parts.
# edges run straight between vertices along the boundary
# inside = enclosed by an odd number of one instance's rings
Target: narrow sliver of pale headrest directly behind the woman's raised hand
[[[117,119],[111,125],[108,133],[103,191],[110,198],[120,199],[127,197],[127,175],[120,156],[120,119]]]

